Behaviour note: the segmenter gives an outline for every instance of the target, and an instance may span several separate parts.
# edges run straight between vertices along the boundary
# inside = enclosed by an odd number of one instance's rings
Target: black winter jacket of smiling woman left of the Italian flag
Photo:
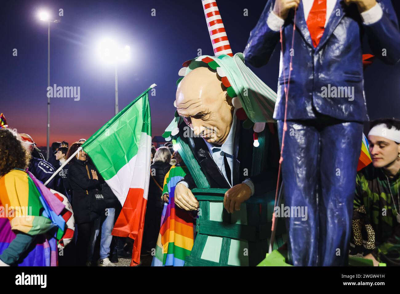
[[[95,189],[102,190],[104,180],[96,168],[88,161],[73,158],[68,168],[68,182],[72,190],[72,210],[77,224],[90,222],[97,217],[97,214],[90,211],[90,197],[94,197]],[[99,180],[89,179],[86,170],[88,166],[90,178],[91,170],[97,172]]]

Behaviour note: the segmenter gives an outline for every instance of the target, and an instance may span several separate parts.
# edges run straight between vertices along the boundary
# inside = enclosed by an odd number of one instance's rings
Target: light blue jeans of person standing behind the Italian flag
[[[110,255],[110,245],[112,241],[112,228],[114,228],[115,208],[108,208],[97,219],[94,220],[92,236],[90,238],[90,256],[93,256],[94,245],[101,227],[100,239],[100,260]]]

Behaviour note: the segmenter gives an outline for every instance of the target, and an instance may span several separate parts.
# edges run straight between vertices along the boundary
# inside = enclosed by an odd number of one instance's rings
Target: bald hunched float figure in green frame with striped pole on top
[[[215,56],[183,64],[164,133],[190,172],[176,185],[175,207],[198,211],[185,266],[256,265],[268,251],[278,174],[276,93],[232,54],[216,2],[202,3]]]

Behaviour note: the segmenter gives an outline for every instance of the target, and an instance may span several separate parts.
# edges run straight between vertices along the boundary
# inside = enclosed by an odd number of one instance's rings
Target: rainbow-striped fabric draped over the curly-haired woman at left
[[[18,266],[57,266],[57,240],[64,234],[65,205],[31,173],[14,169],[0,178],[0,254],[14,231],[38,236]]]

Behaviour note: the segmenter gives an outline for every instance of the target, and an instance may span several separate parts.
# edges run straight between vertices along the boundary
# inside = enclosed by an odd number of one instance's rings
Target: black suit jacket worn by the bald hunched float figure
[[[184,127],[186,124],[181,123],[179,126],[180,133],[184,133]],[[270,132],[268,125],[266,125],[266,131]],[[265,166],[258,175],[251,176],[252,161],[253,161],[253,129],[244,129],[242,127],[242,121],[238,119],[236,123],[236,132],[234,137],[234,158],[233,158],[233,185],[242,183],[244,179],[249,178],[254,184],[254,191],[256,194],[266,189],[274,189],[276,187],[276,179],[278,175],[279,165],[279,141],[278,132],[276,125],[274,125],[274,134],[269,134],[268,140],[268,156]],[[212,155],[208,150],[204,139],[201,137],[182,138],[185,140],[192,152],[196,157],[204,175],[206,176],[208,183],[211,188],[229,188],[229,184],[226,181],[224,175],[222,175],[220,169],[216,165]],[[247,171],[247,173],[246,173]],[[192,175],[187,174],[182,181],[188,183],[189,188],[196,188]],[[268,190],[268,191],[270,191]]]

